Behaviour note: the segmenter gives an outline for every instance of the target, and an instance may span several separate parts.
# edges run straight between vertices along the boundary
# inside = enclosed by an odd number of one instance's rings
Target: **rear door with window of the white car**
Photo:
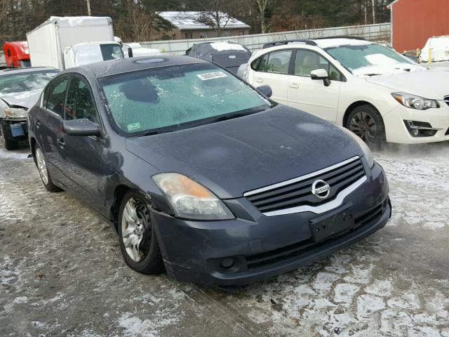
[[[255,87],[270,86],[273,91],[272,100],[288,105],[288,74],[291,57],[292,49],[272,51],[262,55],[257,67],[251,72],[253,76],[250,84]]]

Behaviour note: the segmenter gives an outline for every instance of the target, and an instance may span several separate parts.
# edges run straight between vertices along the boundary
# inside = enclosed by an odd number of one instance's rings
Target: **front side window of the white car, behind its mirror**
[[[310,77],[310,72],[317,69],[325,69],[330,80],[341,81],[342,74],[333,65],[314,51],[296,51],[295,75]]]

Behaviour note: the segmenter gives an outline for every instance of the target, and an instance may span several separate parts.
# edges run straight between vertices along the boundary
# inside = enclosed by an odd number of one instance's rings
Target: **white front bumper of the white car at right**
[[[398,105],[383,116],[387,142],[402,144],[434,143],[449,140],[449,106],[443,101],[438,102],[438,109],[415,110]],[[429,123],[438,129],[434,136],[413,137],[410,135],[404,121],[420,121]]]

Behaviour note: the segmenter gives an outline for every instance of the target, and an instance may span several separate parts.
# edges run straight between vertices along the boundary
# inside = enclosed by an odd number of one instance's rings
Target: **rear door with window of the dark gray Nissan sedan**
[[[46,89],[43,107],[39,111],[36,124],[36,136],[43,147],[48,171],[51,176],[63,185],[67,184],[62,174],[62,125],[64,117],[65,95],[69,75],[55,79]]]

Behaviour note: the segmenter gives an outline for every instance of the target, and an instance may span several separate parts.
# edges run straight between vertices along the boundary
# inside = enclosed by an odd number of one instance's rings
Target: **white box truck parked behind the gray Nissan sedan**
[[[32,67],[65,70],[86,63],[123,58],[109,17],[52,16],[27,33]]]

